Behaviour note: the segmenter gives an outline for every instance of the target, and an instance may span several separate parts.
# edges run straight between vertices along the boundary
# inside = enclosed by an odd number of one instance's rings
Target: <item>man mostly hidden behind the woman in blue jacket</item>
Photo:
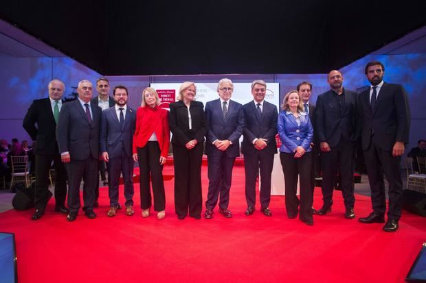
[[[315,177],[320,175],[320,152],[318,150],[318,145],[315,140],[315,104],[311,103],[309,99],[311,98],[312,93],[312,84],[310,82],[301,82],[296,87],[299,93],[300,99],[302,99],[304,112],[309,114],[309,119],[313,126],[313,141],[311,143],[312,147],[312,167],[311,167],[311,191],[313,197],[313,191],[315,190]],[[312,208],[312,213],[317,214],[317,210]]]

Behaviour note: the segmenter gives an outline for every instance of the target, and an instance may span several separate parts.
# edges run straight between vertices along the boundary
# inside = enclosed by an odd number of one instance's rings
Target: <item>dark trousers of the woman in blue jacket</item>
[[[309,220],[312,218],[312,187],[311,187],[311,152],[306,152],[300,158],[295,158],[294,153],[280,152],[282,172],[285,183],[285,206],[287,215]],[[300,179],[300,200],[298,199],[298,177]]]

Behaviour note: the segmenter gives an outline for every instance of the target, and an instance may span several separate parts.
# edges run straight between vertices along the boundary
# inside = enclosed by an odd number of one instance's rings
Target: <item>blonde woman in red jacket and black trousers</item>
[[[133,136],[133,160],[139,160],[142,217],[148,217],[151,207],[149,180],[153,183],[154,210],[157,218],[164,219],[166,194],[164,193],[163,165],[166,163],[170,142],[168,111],[158,108],[160,101],[154,88],[142,92],[142,107],[136,112]]]

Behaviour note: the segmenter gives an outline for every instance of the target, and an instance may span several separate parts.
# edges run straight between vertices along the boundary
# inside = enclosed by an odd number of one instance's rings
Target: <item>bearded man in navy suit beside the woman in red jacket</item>
[[[124,197],[126,215],[135,214],[133,210],[133,133],[135,132],[136,113],[127,106],[127,88],[115,86],[115,106],[102,112],[100,122],[100,151],[102,159],[108,164],[110,208],[106,213],[114,217],[118,204],[118,182],[120,174],[124,178]]]

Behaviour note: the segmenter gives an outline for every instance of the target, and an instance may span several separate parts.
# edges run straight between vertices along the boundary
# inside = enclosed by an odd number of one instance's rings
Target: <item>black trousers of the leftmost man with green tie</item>
[[[53,155],[36,154],[36,186],[34,190],[34,207],[44,209],[46,207],[49,190],[49,171],[54,162],[55,168],[55,205],[57,207],[65,206],[67,197],[67,172],[64,164],[60,160],[60,153]]]

